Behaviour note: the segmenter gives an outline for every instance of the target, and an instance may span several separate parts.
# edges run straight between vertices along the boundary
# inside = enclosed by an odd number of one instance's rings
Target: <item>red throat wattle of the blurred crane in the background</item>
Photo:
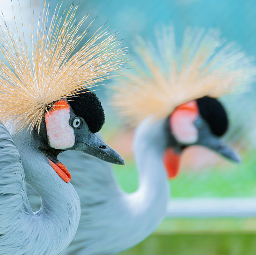
[[[180,154],[173,148],[168,148],[163,155],[163,162],[169,179],[174,179],[180,172]]]

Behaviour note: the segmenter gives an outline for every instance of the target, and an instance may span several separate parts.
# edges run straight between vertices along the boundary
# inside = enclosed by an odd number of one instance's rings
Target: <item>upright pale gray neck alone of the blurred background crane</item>
[[[148,118],[136,129],[134,138],[140,185],[136,192],[127,195],[127,199],[133,214],[134,231],[141,240],[163,220],[169,200],[167,174],[162,162],[166,148],[164,124],[164,120],[152,122],[152,118]]]

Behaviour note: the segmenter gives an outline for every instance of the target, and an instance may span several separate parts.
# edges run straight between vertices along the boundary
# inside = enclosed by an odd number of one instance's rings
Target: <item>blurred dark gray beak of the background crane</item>
[[[202,122],[202,119],[200,120],[199,118],[196,121]],[[195,124],[196,126],[198,126],[198,123],[196,123],[196,121]],[[201,124],[201,127],[198,128],[198,142],[196,144],[212,149],[221,156],[231,161],[237,163],[241,162],[240,156],[234,150],[232,150],[227,144],[225,144],[221,140],[221,138],[219,138],[216,135],[213,135],[208,125],[206,125],[206,123]]]

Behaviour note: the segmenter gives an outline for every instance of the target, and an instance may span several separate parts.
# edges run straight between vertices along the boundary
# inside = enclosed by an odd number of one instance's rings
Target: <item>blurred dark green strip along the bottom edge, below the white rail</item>
[[[254,233],[151,235],[122,255],[255,255]]]

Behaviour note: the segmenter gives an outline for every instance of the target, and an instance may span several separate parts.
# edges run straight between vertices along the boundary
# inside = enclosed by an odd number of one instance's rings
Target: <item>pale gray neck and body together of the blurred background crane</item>
[[[110,164],[77,152],[59,156],[68,169],[76,163],[72,180],[81,199],[77,234],[63,254],[115,254],[138,244],[157,228],[169,199],[161,159],[165,140],[162,121],[151,124],[148,119],[137,128],[134,150],[140,185],[131,194],[120,190]]]

